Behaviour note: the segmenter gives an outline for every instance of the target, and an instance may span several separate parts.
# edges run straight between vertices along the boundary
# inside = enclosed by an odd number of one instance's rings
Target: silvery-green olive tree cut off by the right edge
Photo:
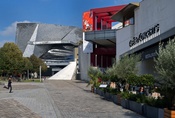
[[[169,40],[167,45],[160,43],[157,55],[154,59],[158,73],[157,82],[165,97],[171,101],[169,107],[172,107],[175,99],[175,38]]]

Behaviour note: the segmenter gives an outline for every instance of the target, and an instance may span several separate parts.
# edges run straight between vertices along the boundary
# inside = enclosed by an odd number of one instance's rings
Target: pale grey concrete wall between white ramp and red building
[[[90,67],[90,54],[83,52],[83,45],[79,46],[79,69],[80,69],[80,79],[84,81],[89,81],[87,71]]]

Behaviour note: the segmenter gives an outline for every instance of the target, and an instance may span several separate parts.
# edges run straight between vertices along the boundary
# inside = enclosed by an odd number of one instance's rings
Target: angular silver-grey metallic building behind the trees
[[[48,75],[53,75],[69,62],[77,60],[82,29],[74,26],[61,26],[41,23],[18,23],[16,44],[24,57],[32,54],[44,60]]]

